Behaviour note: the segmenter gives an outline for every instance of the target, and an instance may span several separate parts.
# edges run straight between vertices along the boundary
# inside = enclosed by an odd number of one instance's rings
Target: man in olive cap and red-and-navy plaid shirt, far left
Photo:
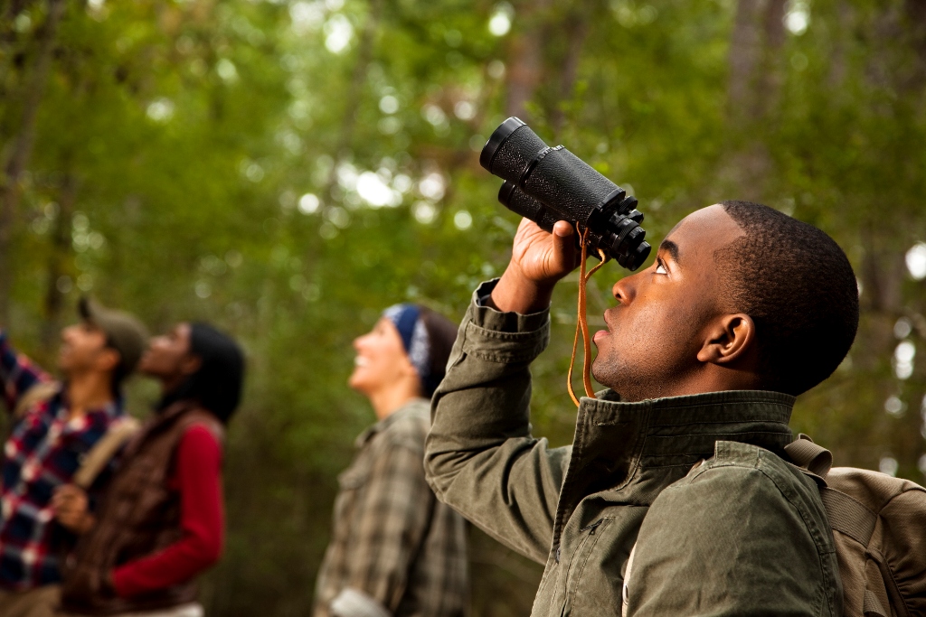
[[[0,617],[52,615],[69,532],[51,498],[84,455],[125,416],[120,386],[144,351],[144,326],[87,299],[61,331],[57,382],[0,331],[0,382],[11,431],[0,458]]]

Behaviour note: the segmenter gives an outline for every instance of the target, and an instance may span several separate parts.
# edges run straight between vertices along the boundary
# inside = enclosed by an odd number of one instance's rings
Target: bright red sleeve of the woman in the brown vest
[[[113,571],[113,585],[123,598],[164,589],[219,561],[225,536],[222,512],[222,451],[205,426],[191,426],[177,448],[169,486],[180,492],[183,537],[168,548]]]

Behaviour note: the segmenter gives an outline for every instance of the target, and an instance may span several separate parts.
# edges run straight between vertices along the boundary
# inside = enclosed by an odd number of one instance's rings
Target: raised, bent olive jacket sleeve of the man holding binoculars
[[[549,312],[481,306],[492,289],[476,290],[434,393],[425,469],[440,500],[544,563],[570,452],[531,435],[530,364],[549,339]]]

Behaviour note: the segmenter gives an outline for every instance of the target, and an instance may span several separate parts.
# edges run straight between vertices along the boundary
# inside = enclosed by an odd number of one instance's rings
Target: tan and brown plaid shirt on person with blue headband
[[[343,610],[338,617],[468,614],[466,524],[424,479],[430,424],[429,401],[419,399],[357,438],[357,456],[338,477],[315,617],[334,614],[332,601],[345,590],[378,607]]]

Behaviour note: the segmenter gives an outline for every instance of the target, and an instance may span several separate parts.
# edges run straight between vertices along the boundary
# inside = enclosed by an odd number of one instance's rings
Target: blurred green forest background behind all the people
[[[0,324],[53,365],[90,293],[246,348],[210,614],[307,614],[373,420],[350,341],[393,302],[459,319],[504,268],[518,221],[478,151],[509,115],[632,191],[651,241],[736,198],[830,233],[861,327],[795,429],[923,482],[926,1],[2,0]],[[593,325],[624,274],[593,279]],[[534,365],[557,444],[576,280]],[[133,413],[155,397],[135,380]],[[475,615],[530,610],[537,567],[477,533],[471,559]]]

